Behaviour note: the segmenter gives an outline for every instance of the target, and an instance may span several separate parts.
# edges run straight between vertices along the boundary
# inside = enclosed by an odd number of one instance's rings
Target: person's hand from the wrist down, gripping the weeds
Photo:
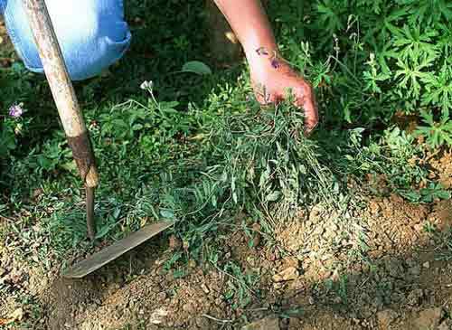
[[[318,123],[315,94],[311,85],[294,71],[276,52],[256,51],[250,61],[251,82],[259,103],[278,103],[292,90],[295,105],[305,111],[305,132],[309,134]]]

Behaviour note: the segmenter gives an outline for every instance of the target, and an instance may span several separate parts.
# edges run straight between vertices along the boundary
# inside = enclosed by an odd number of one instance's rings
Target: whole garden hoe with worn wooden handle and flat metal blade
[[[44,0],[24,0],[34,41],[38,47],[42,66],[52,90],[52,96],[58,108],[62,127],[72,149],[72,156],[79,168],[81,179],[86,187],[87,228],[90,240],[96,237],[94,222],[94,190],[99,184],[98,170],[89,132],[83,121],[79,103],[71,79],[64,63],[61,48],[53,30],[52,21]],[[134,232],[123,240],[110,245],[104,250],[67,270],[66,278],[83,278],[99,269],[113,259],[149,240],[157,233],[165,231],[174,222],[156,222]]]

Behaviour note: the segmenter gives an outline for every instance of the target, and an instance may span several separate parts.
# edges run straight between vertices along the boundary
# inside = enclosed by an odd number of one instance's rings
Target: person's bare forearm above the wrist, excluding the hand
[[[259,0],[214,0],[237,35],[248,61],[261,61],[257,50],[278,50],[275,36]]]

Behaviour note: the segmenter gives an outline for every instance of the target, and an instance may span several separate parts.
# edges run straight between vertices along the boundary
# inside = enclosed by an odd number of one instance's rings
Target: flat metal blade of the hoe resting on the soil
[[[93,271],[106,265],[111,260],[117,259],[128,250],[132,250],[144,241],[154,237],[159,232],[165,231],[165,229],[173,224],[174,222],[156,222],[148,225],[141,230],[127,236],[127,238],[118,240],[117,242],[108,246],[108,248],[100,250],[98,253],[93,254],[88,259],[80,261],[80,263],[65,271],[62,276],[65,278],[83,278]]]

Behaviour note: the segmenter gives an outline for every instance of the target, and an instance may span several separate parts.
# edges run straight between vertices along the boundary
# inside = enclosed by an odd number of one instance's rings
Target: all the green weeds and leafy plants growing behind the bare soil
[[[213,69],[201,2],[127,5],[131,22],[146,22],[132,24],[131,50],[110,73],[75,84],[101,174],[99,239],[172,219],[188,257],[203,258],[207,238],[237,212],[270,231],[300,205],[343,210],[349,178],[365,174],[384,174],[415,202],[446,198],[412,162],[421,146],[389,123],[396,109],[420,113],[428,144],[450,144],[447,1],[270,2],[284,56],[317,91],[322,122],[309,138],[290,102],[259,108],[246,66]],[[11,240],[25,254],[42,241],[42,260],[89,249],[82,186],[47,84],[18,62],[0,70],[0,83],[1,212],[20,219]],[[20,102],[28,112],[9,118]],[[420,182],[427,188],[413,192]],[[166,268],[188,257],[174,254]],[[240,283],[252,278],[218,267],[239,278],[231,298],[248,301]]]

